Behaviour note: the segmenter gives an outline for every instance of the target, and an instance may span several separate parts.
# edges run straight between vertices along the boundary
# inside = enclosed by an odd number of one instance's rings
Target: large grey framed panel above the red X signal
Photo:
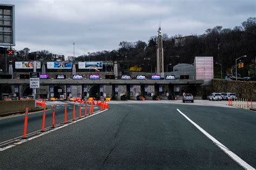
[[[0,46],[15,46],[15,6],[0,4]]]

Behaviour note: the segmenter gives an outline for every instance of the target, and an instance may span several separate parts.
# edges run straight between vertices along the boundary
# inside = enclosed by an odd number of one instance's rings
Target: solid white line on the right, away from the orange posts
[[[238,155],[230,151],[225,145],[221,144],[217,139],[215,139],[211,134],[207,133],[203,128],[201,128],[199,125],[194,123],[190,118],[188,118],[184,113],[182,113],[178,108],[177,111],[183,115],[188,121],[190,121],[191,124],[196,126],[199,131],[204,133],[207,138],[209,138],[215,145],[217,145],[221,150],[223,150],[230,158],[232,158],[235,162],[237,162],[239,165],[241,165],[245,169],[254,169],[251,165],[247,164],[244,160],[242,160]]]

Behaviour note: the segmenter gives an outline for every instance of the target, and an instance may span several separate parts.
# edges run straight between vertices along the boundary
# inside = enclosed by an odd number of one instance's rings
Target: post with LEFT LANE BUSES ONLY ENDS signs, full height
[[[35,99],[36,107],[36,89],[40,88],[40,73],[36,72],[36,61],[33,62],[33,71],[29,73],[30,78],[30,89],[33,89],[33,98]]]

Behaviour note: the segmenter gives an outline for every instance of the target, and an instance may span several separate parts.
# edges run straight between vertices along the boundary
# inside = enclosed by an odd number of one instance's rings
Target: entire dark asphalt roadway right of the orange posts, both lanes
[[[0,152],[0,169],[242,169],[177,108],[256,167],[255,112],[160,103],[109,106],[105,112]],[[1,138],[12,131],[1,130]]]

